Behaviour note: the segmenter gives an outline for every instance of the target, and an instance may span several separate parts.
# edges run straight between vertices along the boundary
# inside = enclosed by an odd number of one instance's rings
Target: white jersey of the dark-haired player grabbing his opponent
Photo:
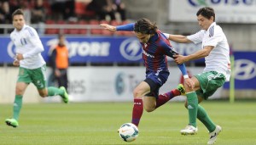
[[[224,32],[215,22],[210,25],[207,31],[201,30],[194,35],[187,36],[194,43],[202,43],[201,48],[212,46],[211,53],[206,59],[206,71],[217,71],[230,80],[230,47]]]

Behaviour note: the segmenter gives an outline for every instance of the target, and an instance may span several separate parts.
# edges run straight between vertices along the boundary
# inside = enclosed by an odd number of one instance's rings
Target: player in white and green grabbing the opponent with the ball
[[[201,58],[206,60],[206,67],[203,72],[191,78],[195,83],[195,87],[189,87],[187,84],[184,84],[187,96],[185,107],[189,110],[189,125],[181,130],[181,134],[196,134],[198,131],[196,118],[198,118],[198,120],[201,120],[206,125],[207,130],[210,132],[210,139],[207,143],[213,144],[216,142],[221,127],[212,122],[206,110],[198,103],[207,100],[208,97],[216,92],[218,87],[224,85],[224,81],[230,80],[230,47],[221,27],[215,23],[213,8],[200,8],[196,15],[201,31],[190,36],[166,35],[174,42],[202,43],[202,49],[196,53],[188,56],[179,54],[175,56],[177,64]]]

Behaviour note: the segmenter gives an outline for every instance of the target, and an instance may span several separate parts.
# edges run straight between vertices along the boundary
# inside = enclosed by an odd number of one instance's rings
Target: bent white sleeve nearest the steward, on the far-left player
[[[43,44],[38,36],[38,32],[32,27],[26,27],[26,38],[32,44],[33,49],[23,54],[23,58],[30,58],[44,51]]]

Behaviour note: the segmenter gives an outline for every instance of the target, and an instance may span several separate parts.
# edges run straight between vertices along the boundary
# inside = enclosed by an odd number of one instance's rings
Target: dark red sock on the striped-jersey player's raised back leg
[[[172,98],[180,95],[180,92],[176,92],[177,89],[172,90],[171,92],[166,92],[165,94],[159,95],[158,99],[156,100],[156,106],[155,109],[159,108],[161,105],[165,104]]]

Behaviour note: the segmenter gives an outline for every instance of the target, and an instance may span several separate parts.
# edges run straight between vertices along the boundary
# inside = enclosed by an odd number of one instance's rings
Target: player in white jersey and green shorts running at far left
[[[22,98],[26,87],[32,82],[37,88],[39,95],[52,97],[60,95],[64,103],[68,103],[66,88],[61,86],[56,88],[46,86],[46,66],[41,53],[44,47],[37,31],[25,24],[24,14],[21,9],[15,10],[12,14],[15,30],[10,34],[10,39],[16,47],[16,57],[14,65],[19,66],[19,75],[15,87],[15,103],[13,117],[6,119],[7,125],[17,127]]]

